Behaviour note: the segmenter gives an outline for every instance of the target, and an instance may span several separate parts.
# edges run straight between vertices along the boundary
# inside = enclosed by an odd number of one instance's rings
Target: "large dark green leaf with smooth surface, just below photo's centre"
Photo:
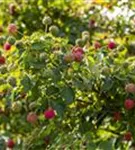
[[[61,96],[66,100],[68,104],[70,104],[75,98],[75,93],[71,87],[64,87],[61,92]]]

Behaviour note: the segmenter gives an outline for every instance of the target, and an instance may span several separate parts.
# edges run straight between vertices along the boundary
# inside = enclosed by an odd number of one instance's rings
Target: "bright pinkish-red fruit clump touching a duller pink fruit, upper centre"
[[[81,62],[83,59],[84,51],[81,47],[77,47],[73,49],[72,54],[74,56],[74,60],[77,62]]]

